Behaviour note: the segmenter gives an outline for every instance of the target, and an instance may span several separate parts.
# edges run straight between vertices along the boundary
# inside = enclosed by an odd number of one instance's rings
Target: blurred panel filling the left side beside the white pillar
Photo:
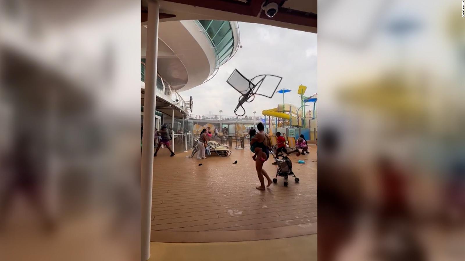
[[[0,1],[0,260],[140,260],[139,59],[140,2]]]

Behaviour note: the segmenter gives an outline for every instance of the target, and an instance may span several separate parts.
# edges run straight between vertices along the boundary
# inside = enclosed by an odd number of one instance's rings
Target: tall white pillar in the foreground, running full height
[[[150,225],[152,217],[153,142],[155,131],[155,98],[158,57],[158,20],[160,6],[157,0],[148,1],[147,51],[144,95],[144,129],[140,162],[140,259],[150,258]]]

